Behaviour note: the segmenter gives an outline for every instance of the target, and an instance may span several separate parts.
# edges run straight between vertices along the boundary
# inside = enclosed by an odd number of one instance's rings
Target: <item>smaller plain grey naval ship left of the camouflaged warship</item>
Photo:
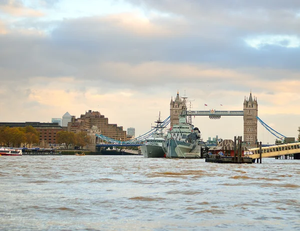
[[[140,146],[140,151],[144,157],[147,158],[162,158],[164,157],[164,152],[162,150],[162,143],[165,141],[163,128],[159,118],[155,122],[156,127],[154,133],[145,140],[145,145]]]

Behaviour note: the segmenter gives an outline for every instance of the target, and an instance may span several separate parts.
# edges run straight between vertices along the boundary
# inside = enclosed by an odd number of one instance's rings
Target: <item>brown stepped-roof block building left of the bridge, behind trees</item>
[[[123,131],[122,126],[117,124],[109,124],[108,118],[101,115],[98,111],[85,112],[80,115],[80,118],[71,118],[71,123],[68,123],[67,131],[78,133],[80,131],[89,131],[92,126],[96,126],[99,133],[114,140],[126,141],[126,131]]]

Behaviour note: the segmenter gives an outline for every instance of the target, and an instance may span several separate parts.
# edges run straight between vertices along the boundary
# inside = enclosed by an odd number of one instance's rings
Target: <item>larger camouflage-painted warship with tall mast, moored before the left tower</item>
[[[179,115],[179,124],[174,124],[162,143],[166,158],[203,158],[205,144],[198,128],[186,122],[186,107]]]

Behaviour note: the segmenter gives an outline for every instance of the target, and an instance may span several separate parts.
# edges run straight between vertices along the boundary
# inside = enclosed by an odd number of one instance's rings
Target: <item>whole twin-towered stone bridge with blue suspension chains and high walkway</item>
[[[186,97],[179,97],[178,92],[174,100],[171,98],[170,116],[162,122],[161,126],[166,127],[168,124],[170,124],[170,127],[172,127],[173,124],[178,124],[178,115],[181,113],[185,113],[188,116],[189,123],[191,123],[191,116],[208,116],[210,119],[220,119],[221,116],[243,116],[243,141],[247,143],[249,147],[254,148],[257,146],[257,122],[259,122],[267,131],[276,136],[278,139],[283,140],[284,138],[286,138],[285,136],[276,132],[274,129],[265,124],[260,118],[258,118],[257,98],[252,97],[251,92],[249,97],[244,97],[242,111],[186,110],[186,99]],[[184,111],[182,111],[183,108],[185,108]],[[117,141],[109,137],[105,137],[101,134],[95,134],[96,147],[101,148],[109,146],[140,146],[143,145],[143,141],[147,137],[151,136],[154,132],[155,128],[129,141]]]

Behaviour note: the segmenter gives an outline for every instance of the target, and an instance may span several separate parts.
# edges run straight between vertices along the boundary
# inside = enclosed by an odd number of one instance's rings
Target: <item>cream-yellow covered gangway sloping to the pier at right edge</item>
[[[300,153],[300,142],[273,145],[261,148],[261,158],[283,156],[297,153]],[[247,155],[245,156],[251,157],[252,159],[259,159],[259,148],[250,148],[249,152],[247,152]]]

